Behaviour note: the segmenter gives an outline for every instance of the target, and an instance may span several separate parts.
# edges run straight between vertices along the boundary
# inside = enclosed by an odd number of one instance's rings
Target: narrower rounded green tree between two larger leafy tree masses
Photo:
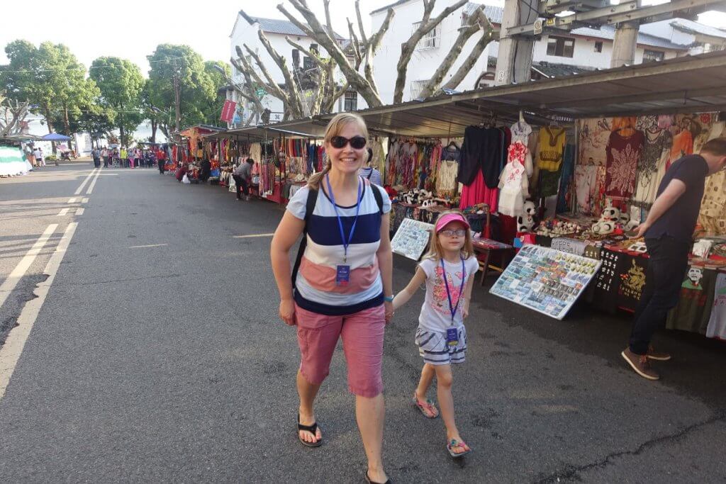
[[[142,122],[144,78],[139,66],[119,57],[99,57],[91,63],[91,79],[101,92],[100,104],[115,112],[121,144],[128,145]]]

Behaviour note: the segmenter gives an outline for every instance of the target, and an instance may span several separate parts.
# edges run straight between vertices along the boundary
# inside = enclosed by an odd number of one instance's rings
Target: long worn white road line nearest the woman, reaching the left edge
[[[38,314],[41,312],[43,303],[48,296],[55,275],[58,272],[60,263],[63,261],[65,251],[68,250],[70,239],[73,238],[73,234],[76,233],[76,227],[78,223],[71,222],[68,224],[68,228],[65,229],[62,239],[58,242],[58,246],[55,249],[53,255],[51,255],[50,261],[44,269],[44,274],[48,274],[48,279],[44,282],[38,283],[36,290],[33,294],[38,296],[35,299],[29,300],[23,306],[23,311],[20,312],[20,316],[17,317],[17,327],[12,329],[10,334],[5,340],[5,344],[0,348],[0,400],[5,394],[12,372],[15,371],[17,361],[20,359],[20,355],[23,353],[25,342],[28,341],[30,331],[33,329]]]

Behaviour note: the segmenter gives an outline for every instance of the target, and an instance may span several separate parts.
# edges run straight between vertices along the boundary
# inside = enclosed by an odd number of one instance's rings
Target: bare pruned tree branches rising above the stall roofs
[[[289,12],[283,4],[278,5],[277,9],[279,9],[280,12],[282,12],[282,14],[290,20],[290,22],[293,22],[295,26],[302,30],[306,36],[314,38],[315,42],[319,44],[319,46],[322,46],[328,54],[327,58],[322,57],[318,52],[304,49],[299,44],[290,40],[290,38],[287,38],[288,44],[295,47],[295,49],[301,50],[301,52],[305,52],[306,55],[309,55],[309,57],[311,57],[318,66],[317,73],[315,74],[317,75],[317,89],[315,89],[312,94],[313,101],[307,104],[309,107],[306,109],[306,103],[302,102],[303,98],[299,93],[299,82],[295,83],[290,81],[290,78],[293,76],[290,75],[290,69],[285,64],[285,58],[280,56],[279,53],[274,52],[272,46],[269,46],[269,42],[266,40],[264,33],[260,32],[258,33],[258,36],[265,49],[274,60],[274,63],[282,72],[282,75],[285,78],[285,85],[277,86],[277,84],[274,83],[272,76],[269,75],[267,66],[261,62],[259,57],[256,56],[255,52],[253,52],[253,49],[250,49],[250,46],[237,46],[236,51],[238,58],[236,60],[232,59],[232,65],[245,75],[245,79],[248,77],[252,78],[254,83],[263,86],[264,89],[266,89],[274,97],[282,99],[285,104],[286,117],[290,116],[296,118],[304,115],[315,115],[319,112],[330,112],[330,110],[333,109],[335,101],[348,89],[358,92],[370,107],[377,107],[383,104],[375,81],[372,60],[375,52],[380,47],[383,36],[386,35],[386,32],[388,32],[388,29],[391,27],[391,20],[395,15],[393,9],[388,9],[386,17],[378,31],[373,33],[371,36],[367,36],[363,28],[359,0],[356,0],[355,20],[357,25],[354,25],[354,23],[348,19],[348,35],[350,36],[350,44],[346,49],[344,49],[337,36],[335,36],[330,22],[330,0],[323,0],[323,6],[325,8],[325,25],[317,19],[317,16],[311,11],[306,0],[289,1],[297,11],[295,14]],[[423,0],[424,11],[421,21],[418,22],[416,30],[412,33],[409,39],[401,44],[401,56],[399,57],[399,61],[396,65],[396,85],[393,91],[394,103],[399,103],[403,100],[407,79],[407,69],[417,48],[417,44],[419,44],[424,36],[436,28],[436,26],[439,25],[447,16],[463,7],[466,3],[466,0],[458,0],[451,6],[444,8],[439,15],[432,18],[432,12],[436,6],[436,0]],[[253,21],[250,17],[245,15],[245,12],[240,13],[247,18],[248,21]],[[358,29],[357,33],[356,27]],[[422,97],[431,97],[439,93],[442,88],[454,89],[458,86],[465,75],[476,63],[478,57],[480,57],[484,52],[486,45],[494,39],[494,28],[486,15],[484,15],[483,6],[478,7],[473,15],[468,17],[465,25],[462,27],[463,28],[460,30],[460,34],[452,46],[452,49],[441,62],[441,65],[436,69],[436,73],[432,76],[428,85],[424,87]],[[470,52],[468,57],[462,62],[462,65],[460,65],[456,73],[452,75],[452,78],[450,78],[444,86],[441,86],[446,74],[449,73],[449,70],[451,70],[454,63],[459,59],[465,44],[478,32],[481,32],[481,38],[473,47],[472,52]],[[254,60],[262,75],[257,75],[256,69],[253,68],[251,62],[245,60],[247,55]],[[295,73],[294,68],[295,66],[293,66],[292,73]],[[335,82],[335,72],[337,69],[340,70],[340,73],[342,73],[345,78],[345,83],[343,83],[342,86],[339,86]],[[246,81],[246,83],[250,83],[250,81]]]

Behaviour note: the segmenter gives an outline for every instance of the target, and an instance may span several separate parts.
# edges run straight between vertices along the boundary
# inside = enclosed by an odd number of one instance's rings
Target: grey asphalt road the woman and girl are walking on
[[[0,400],[0,482],[363,482],[342,350],[318,401],[325,445],[303,448],[297,343],[277,319],[270,238],[235,237],[270,234],[282,210],[152,170],[104,170],[91,194],[88,181],[76,195],[90,172],[74,164],[0,180],[0,282],[58,224],[0,308],[0,341],[78,224]],[[413,268],[394,257],[396,288]],[[410,403],[422,301],[420,292],[386,332],[394,482],[726,480],[724,345],[664,332],[656,344],[674,358],[647,382],[619,356],[627,316],[582,304],[556,321],[478,285],[467,362],[454,373],[474,451],[453,462],[441,420]]]

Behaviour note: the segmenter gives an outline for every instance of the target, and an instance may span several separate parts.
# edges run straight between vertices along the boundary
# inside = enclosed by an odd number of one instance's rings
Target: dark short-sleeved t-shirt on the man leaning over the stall
[[[658,186],[658,197],[674,179],[685,184],[685,192],[645,232],[646,239],[658,239],[663,235],[669,235],[682,242],[691,241],[698,221],[698,211],[701,210],[703,185],[708,173],[709,165],[701,155],[682,157],[668,168]]]

